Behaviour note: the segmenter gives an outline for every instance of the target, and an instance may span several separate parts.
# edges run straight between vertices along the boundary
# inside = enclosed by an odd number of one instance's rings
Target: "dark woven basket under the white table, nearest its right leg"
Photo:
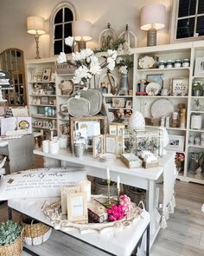
[[[146,190],[137,187],[124,185],[124,194],[131,198],[131,201],[138,204],[141,200],[146,201]]]

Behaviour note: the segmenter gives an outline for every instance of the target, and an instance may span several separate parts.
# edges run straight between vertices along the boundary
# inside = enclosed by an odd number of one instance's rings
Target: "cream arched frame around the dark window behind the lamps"
[[[62,8],[68,8],[73,12],[73,21],[77,21],[79,19],[78,11],[73,5],[73,3],[63,2],[54,7],[52,14],[50,16],[50,56],[57,56],[54,55],[54,18],[59,10]],[[64,30],[62,30],[62,36],[64,36]],[[62,37],[62,40],[64,37]]]

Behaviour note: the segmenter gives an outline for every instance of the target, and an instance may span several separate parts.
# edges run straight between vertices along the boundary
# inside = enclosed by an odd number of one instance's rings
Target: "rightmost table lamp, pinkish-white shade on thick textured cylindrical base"
[[[156,45],[156,30],[165,27],[166,7],[155,3],[145,5],[140,10],[140,29],[147,30],[147,46]]]

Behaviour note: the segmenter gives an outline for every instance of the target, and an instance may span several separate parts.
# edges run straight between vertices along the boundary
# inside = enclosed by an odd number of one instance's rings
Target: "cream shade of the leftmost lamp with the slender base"
[[[29,34],[45,34],[44,18],[41,16],[28,16],[27,17],[27,30]]]

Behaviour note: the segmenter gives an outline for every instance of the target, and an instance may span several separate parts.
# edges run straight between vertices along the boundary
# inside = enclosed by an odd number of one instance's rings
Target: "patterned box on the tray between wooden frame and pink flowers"
[[[106,213],[106,208],[98,201],[91,200],[88,204],[88,218],[92,222],[102,223],[108,219],[108,214]]]

